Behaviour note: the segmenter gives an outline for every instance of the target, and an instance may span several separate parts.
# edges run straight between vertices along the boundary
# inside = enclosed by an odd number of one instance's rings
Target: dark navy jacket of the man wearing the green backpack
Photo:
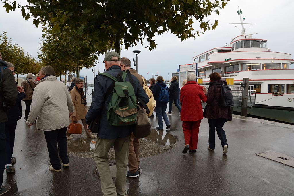
[[[107,69],[105,73],[110,74],[111,76],[117,76],[121,71],[120,66],[111,66]],[[133,75],[132,79],[134,81],[134,91],[137,97],[141,98],[145,103],[148,103],[149,98],[140,85],[137,78]],[[126,81],[129,81],[128,77],[126,77]],[[101,114],[100,119],[100,127],[98,131],[98,137],[101,139],[115,139],[115,138],[125,138],[131,135],[134,130],[135,125],[127,125],[127,126],[112,126],[108,123],[106,117],[106,108],[110,102],[112,93],[108,98],[105,98],[107,89],[111,86],[113,80],[103,75],[97,75],[95,77],[94,83],[94,91],[92,96],[92,104],[88,110],[86,115],[86,123],[90,124],[90,122],[96,118],[99,114]],[[106,101],[105,101],[106,100]]]

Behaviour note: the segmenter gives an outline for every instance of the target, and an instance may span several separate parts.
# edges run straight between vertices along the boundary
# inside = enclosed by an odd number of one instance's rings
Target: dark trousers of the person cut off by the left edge
[[[5,123],[0,123],[0,186],[3,183],[3,173],[6,160]]]

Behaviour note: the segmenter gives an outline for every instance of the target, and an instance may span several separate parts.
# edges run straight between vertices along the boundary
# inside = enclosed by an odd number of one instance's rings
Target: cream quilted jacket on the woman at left
[[[55,76],[48,76],[37,82],[26,124],[36,122],[40,130],[56,130],[69,125],[69,113],[74,105],[64,83]]]

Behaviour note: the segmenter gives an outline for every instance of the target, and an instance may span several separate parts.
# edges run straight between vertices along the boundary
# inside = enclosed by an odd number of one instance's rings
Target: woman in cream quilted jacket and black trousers
[[[69,117],[74,113],[74,105],[69,91],[64,83],[57,81],[51,66],[42,67],[39,76],[41,80],[34,89],[26,124],[30,127],[37,119],[36,128],[44,131],[48,147],[51,163],[49,170],[60,172],[58,157],[64,167],[69,166],[66,128],[69,125]]]

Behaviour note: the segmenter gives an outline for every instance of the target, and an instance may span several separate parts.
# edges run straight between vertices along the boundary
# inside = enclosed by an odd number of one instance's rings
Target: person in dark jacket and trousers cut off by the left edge
[[[10,185],[3,183],[3,172],[5,169],[6,157],[6,135],[5,122],[7,122],[7,106],[15,105],[17,97],[17,88],[15,85],[12,71],[6,66],[6,62],[2,60],[0,53],[0,195],[6,193],[10,189]],[[6,104],[6,107],[4,106]]]

